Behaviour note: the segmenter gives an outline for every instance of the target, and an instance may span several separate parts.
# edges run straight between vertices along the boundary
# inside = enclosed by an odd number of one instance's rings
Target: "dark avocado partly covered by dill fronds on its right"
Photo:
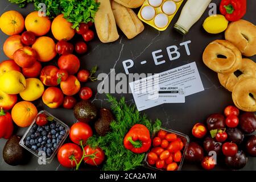
[[[110,131],[110,123],[114,120],[114,116],[112,112],[108,109],[101,109],[100,110],[100,118],[94,123],[94,127],[96,132],[101,135],[105,136],[106,133]]]

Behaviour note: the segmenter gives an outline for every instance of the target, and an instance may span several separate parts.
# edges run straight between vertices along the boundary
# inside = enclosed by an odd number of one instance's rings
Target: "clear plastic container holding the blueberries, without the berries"
[[[20,139],[20,146],[26,148],[26,150],[30,151],[32,154],[34,154],[35,156],[37,156],[38,158],[42,159],[42,162],[46,162],[46,164],[49,164],[52,162],[52,159],[54,158],[54,156],[57,154],[57,151],[59,150],[60,146],[62,146],[63,142],[65,141],[65,139],[68,137],[69,135],[69,127],[62,121],[60,121],[58,118],[54,117],[52,114],[48,113],[46,110],[42,110],[38,113],[39,114],[42,114],[42,113],[45,113],[46,115],[50,116],[53,118],[53,121],[55,121],[56,123],[59,123],[59,125],[63,126],[64,129],[65,129],[65,135],[63,136],[63,138],[60,140],[60,143],[57,145],[57,147],[55,148],[55,150],[52,152],[52,155],[47,157],[47,155],[42,155],[42,152],[36,152],[34,150],[32,150],[31,148],[28,148],[25,144],[26,142],[26,138],[27,138],[27,135],[30,134],[31,130],[32,130],[32,126],[36,123],[35,123],[35,119],[34,121],[31,123],[30,127],[28,127],[26,133],[23,135],[22,139]],[[49,121],[51,122],[51,121]],[[40,155],[39,155],[40,154]],[[44,157],[45,156],[45,157]]]

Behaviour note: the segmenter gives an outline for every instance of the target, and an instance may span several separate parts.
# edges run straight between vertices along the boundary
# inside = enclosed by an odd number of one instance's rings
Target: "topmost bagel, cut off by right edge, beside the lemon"
[[[256,54],[256,26],[246,20],[229,23],[225,39],[233,43],[244,56]]]

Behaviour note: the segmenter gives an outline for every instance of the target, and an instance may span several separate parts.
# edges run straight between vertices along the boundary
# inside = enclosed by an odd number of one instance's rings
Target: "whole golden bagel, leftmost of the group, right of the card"
[[[221,58],[218,56],[225,56]],[[226,40],[214,40],[204,49],[203,61],[217,73],[227,74],[237,71],[242,60],[241,52]]]

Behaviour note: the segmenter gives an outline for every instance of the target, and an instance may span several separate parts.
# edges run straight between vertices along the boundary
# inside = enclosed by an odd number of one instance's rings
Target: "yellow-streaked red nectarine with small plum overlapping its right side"
[[[48,65],[44,67],[40,73],[40,80],[46,86],[57,86],[57,77],[56,74],[59,69],[55,66]]]

